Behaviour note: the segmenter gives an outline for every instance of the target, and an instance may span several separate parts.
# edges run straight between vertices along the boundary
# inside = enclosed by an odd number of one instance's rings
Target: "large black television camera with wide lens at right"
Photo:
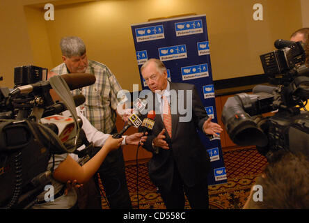
[[[306,51],[301,42],[288,40],[276,40],[275,47],[260,59],[269,83],[276,86],[258,85],[252,94],[228,98],[221,117],[235,144],[257,146],[269,162],[284,151],[309,157],[309,114],[301,111],[309,98]],[[268,112],[273,115],[262,116]]]

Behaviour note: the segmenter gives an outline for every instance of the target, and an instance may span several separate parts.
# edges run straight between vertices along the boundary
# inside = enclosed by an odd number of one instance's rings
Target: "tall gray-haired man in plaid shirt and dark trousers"
[[[122,106],[119,105],[127,100],[127,98],[117,97],[118,92],[122,89],[116,77],[104,64],[88,60],[86,46],[81,38],[64,37],[61,39],[60,46],[64,63],[51,71],[58,75],[68,73],[95,75],[95,84],[75,89],[72,91],[72,95],[81,93],[85,96],[86,101],[81,109],[84,111],[84,116],[97,130],[108,134],[116,133],[116,111],[117,108],[122,109]],[[121,114],[123,114],[123,110]],[[127,121],[127,114],[121,116],[123,120]],[[127,190],[122,149],[118,148],[118,150],[109,153],[98,172],[110,208],[132,208]]]

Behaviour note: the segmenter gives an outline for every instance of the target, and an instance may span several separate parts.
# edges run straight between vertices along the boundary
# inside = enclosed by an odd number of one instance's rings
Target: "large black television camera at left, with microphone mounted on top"
[[[13,90],[0,88],[0,208],[29,208],[50,181],[47,164],[53,154],[73,153],[81,128],[75,107],[84,95],[70,90],[95,83],[90,74],[56,75],[47,69],[15,68]],[[54,89],[63,102],[54,102]],[[72,118],[59,114],[70,110]]]

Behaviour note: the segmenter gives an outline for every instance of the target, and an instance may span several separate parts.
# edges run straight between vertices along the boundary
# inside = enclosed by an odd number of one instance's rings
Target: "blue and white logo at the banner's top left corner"
[[[139,29],[135,29],[136,41],[144,42],[150,40],[164,39],[163,25],[148,26]]]

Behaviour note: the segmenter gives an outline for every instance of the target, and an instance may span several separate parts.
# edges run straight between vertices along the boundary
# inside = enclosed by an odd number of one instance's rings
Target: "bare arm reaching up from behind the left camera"
[[[59,164],[57,169],[55,169],[53,173],[54,178],[63,183],[66,183],[68,180],[77,180],[78,183],[87,182],[95,174],[97,169],[99,169],[106,155],[113,149],[118,148],[121,141],[122,138],[113,139],[109,137],[100,151],[82,167],[68,155],[68,157]]]

